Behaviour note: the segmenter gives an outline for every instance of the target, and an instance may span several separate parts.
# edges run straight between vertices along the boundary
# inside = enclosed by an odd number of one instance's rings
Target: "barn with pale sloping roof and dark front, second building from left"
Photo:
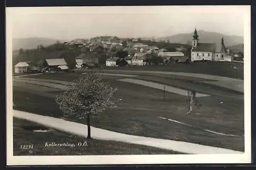
[[[44,70],[68,70],[68,64],[63,58],[58,59],[45,59],[44,61]]]

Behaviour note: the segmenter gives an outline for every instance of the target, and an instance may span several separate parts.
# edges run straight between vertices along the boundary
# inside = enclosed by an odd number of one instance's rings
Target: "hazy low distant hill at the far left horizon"
[[[51,45],[58,41],[57,39],[51,38],[40,38],[40,37],[33,37],[33,38],[13,38],[12,40],[12,50],[19,50],[19,48],[26,49],[35,49],[37,45]],[[65,40],[59,40],[60,42],[64,42]]]

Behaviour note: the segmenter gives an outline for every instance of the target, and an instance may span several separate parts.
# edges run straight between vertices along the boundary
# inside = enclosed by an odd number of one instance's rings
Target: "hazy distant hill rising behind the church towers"
[[[188,42],[191,43],[193,39],[194,32],[191,32],[189,34],[176,34],[173,36],[167,36],[167,37],[160,37],[155,38],[157,41],[159,40],[169,40],[170,43],[181,43],[181,44],[187,44]],[[221,38],[224,37],[224,43],[226,47],[241,44],[244,42],[244,38],[242,36],[236,36],[236,35],[223,35],[220,33],[215,32],[206,32],[203,30],[198,31],[199,35],[199,43],[216,43],[216,51],[219,52],[221,48]]]

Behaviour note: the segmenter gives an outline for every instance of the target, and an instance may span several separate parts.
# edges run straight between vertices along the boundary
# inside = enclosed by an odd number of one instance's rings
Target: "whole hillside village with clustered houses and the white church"
[[[197,30],[191,37],[192,44],[177,44],[176,46],[159,48],[157,45],[142,43],[140,39],[120,39],[116,36],[101,36],[90,40],[75,39],[64,42],[61,45],[69,50],[79,49],[78,56],[71,59],[53,58],[40,59],[38,61],[22,61],[14,66],[15,74],[28,72],[54,72],[70,71],[73,69],[95,68],[98,66],[145,66],[145,65],[168,65],[169,63],[193,63],[197,61],[225,61],[233,62],[241,58],[238,52],[230,51],[224,43],[224,37],[220,40],[221,50],[216,51],[215,43],[203,43],[199,40]],[[157,44],[155,42],[154,44]],[[38,45],[39,50],[43,50]],[[106,55],[109,53],[108,55]],[[105,57],[99,59],[99,54]],[[109,56],[109,58],[107,58]],[[99,63],[101,60],[101,63]],[[241,61],[240,61],[241,62]]]

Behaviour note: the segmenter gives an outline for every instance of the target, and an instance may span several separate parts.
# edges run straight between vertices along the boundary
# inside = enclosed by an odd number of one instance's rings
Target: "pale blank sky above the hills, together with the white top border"
[[[12,38],[163,37],[197,30],[244,35],[246,6],[7,8]],[[250,11],[249,11],[250,12]]]

